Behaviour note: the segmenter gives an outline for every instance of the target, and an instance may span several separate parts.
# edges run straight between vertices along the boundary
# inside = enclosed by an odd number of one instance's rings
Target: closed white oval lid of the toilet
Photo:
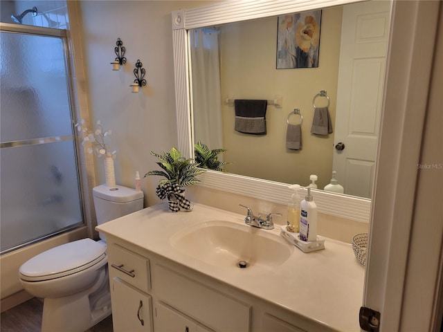
[[[46,250],[20,266],[21,279],[42,281],[71,275],[106,259],[106,247],[81,239]]]

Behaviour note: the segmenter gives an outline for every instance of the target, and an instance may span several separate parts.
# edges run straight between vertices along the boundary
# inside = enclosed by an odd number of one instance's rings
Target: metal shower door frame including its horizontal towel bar
[[[7,24],[0,22],[0,31],[6,32],[6,33],[20,33],[20,34],[26,34],[26,35],[37,35],[42,37],[57,37],[62,39],[62,44],[64,48],[64,57],[65,57],[65,70],[66,70],[66,85],[67,85],[67,91],[68,91],[68,100],[69,100],[69,114],[71,119],[75,120],[78,118],[77,116],[77,108],[75,105],[75,91],[73,90],[73,64],[71,64],[71,57],[73,57],[73,53],[71,52],[70,43],[68,40],[68,33],[67,30],[64,29],[57,29],[57,28],[44,28],[39,26],[28,26],[28,25],[19,25],[19,24]],[[82,176],[82,163],[81,163],[81,151],[79,149],[78,145],[78,136],[75,135],[75,129],[73,127],[73,124],[71,124],[72,127],[72,136],[69,138],[73,140],[73,144],[75,146],[74,152],[75,152],[75,164],[76,164],[76,170],[77,170],[77,179],[78,179],[78,187],[79,187],[79,200],[80,200],[80,214],[82,216],[82,221],[79,223],[75,223],[74,225],[68,226],[67,228],[62,228],[61,230],[57,230],[51,234],[46,234],[42,237],[39,237],[37,239],[33,239],[30,241],[26,241],[24,243],[21,243],[17,246],[14,246],[12,248],[8,248],[6,250],[3,250],[0,252],[0,255],[5,255],[10,252],[14,252],[17,249],[24,248],[26,246],[29,246],[33,243],[38,243],[40,241],[44,241],[46,239],[49,239],[51,237],[55,237],[60,234],[64,234],[66,232],[71,232],[73,230],[78,230],[80,228],[87,227],[88,220],[87,220],[87,213],[86,213],[86,207],[85,207],[85,197],[84,197],[84,190],[88,187],[87,185],[84,185],[84,181],[82,179],[84,178]],[[0,143],[1,148],[3,147],[18,147],[18,146],[24,146],[24,145],[34,145],[34,144],[40,144],[41,138],[35,138],[31,140],[19,140],[15,142],[5,142]],[[64,136],[62,137],[62,140],[64,140]],[[58,138],[44,138],[44,143],[47,142],[60,142]],[[88,227],[87,232],[89,236],[91,236],[91,230]]]

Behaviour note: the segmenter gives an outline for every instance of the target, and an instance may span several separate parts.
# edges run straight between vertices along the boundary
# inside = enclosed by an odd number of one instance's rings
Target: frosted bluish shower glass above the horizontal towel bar
[[[72,133],[63,41],[1,32],[1,142]]]

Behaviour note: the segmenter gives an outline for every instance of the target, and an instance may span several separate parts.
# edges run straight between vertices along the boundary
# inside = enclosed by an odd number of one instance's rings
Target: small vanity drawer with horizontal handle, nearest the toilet
[[[111,244],[108,246],[109,276],[148,292],[151,289],[150,260],[130,250]]]

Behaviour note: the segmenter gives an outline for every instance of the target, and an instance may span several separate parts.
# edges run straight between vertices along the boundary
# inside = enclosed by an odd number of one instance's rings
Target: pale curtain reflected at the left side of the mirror
[[[210,149],[223,147],[218,32],[201,28],[190,33],[194,141]]]

